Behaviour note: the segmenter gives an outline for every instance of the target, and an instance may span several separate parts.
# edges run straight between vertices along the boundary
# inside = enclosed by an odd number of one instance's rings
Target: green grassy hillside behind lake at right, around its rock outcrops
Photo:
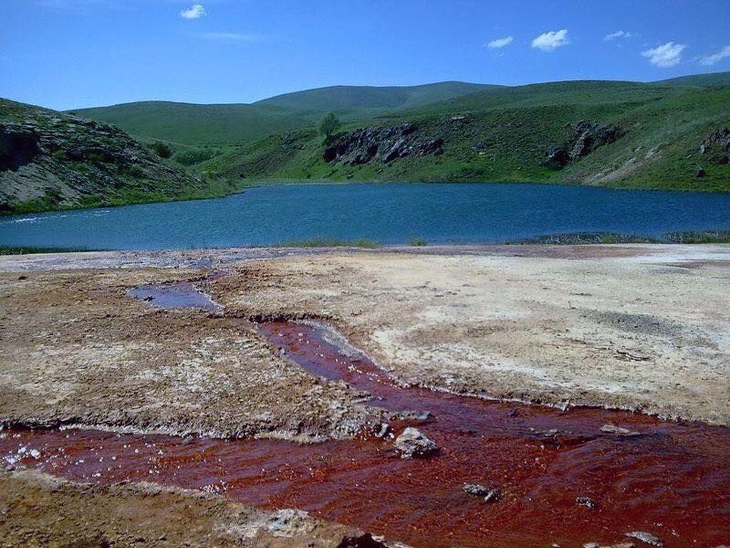
[[[702,164],[706,178],[694,173],[703,137],[730,124],[729,105],[730,86],[588,81],[494,88],[343,128],[412,121],[424,136],[445,139],[442,156],[385,166],[326,164],[320,137],[303,129],[286,139],[271,135],[201,168],[251,179],[532,180],[727,191],[727,166]],[[458,126],[453,115],[469,115],[469,123]],[[618,123],[628,133],[561,172],[542,167],[545,151],[580,120]]]

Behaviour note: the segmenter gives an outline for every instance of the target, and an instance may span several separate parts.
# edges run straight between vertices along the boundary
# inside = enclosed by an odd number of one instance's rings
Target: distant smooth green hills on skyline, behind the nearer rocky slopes
[[[188,145],[242,144],[315,125],[324,113],[342,119],[415,107],[493,86],[444,82],[410,87],[334,86],[264,99],[253,104],[136,102],[77,109],[74,115],[113,123],[139,137]]]

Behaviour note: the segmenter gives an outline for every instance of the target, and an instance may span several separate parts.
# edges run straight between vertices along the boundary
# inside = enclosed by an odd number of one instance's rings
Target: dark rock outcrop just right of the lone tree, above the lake
[[[324,151],[325,161],[341,161],[356,166],[369,162],[387,164],[406,156],[436,156],[444,140],[418,136],[412,123],[390,127],[364,127],[335,140]]]

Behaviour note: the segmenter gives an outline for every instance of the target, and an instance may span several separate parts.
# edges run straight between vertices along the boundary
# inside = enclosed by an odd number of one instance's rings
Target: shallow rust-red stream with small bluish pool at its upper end
[[[221,312],[191,284],[133,294],[152,305]],[[312,374],[369,392],[369,406],[407,413],[320,444],[14,428],[0,438],[4,465],[306,510],[413,547],[730,544],[728,428],[404,386],[326,324],[258,327]],[[401,458],[393,441],[406,427],[438,449]]]

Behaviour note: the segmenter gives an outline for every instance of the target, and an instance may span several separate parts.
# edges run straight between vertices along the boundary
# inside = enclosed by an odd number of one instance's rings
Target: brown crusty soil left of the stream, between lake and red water
[[[0,273],[0,421],[301,440],[359,430],[361,395],[284,359],[252,324],[129,293],[200,276]]]

